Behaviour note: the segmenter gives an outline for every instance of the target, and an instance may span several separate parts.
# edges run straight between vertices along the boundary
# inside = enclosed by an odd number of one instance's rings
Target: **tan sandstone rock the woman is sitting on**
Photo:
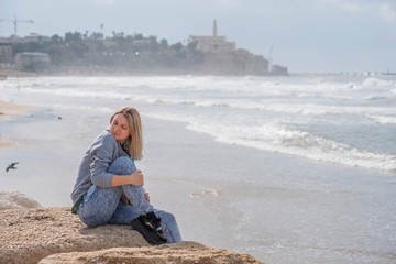
[[[61,252],[147,245],[129,226],[88,228],[68,207],[0,211],[0,263],[33,264]]]

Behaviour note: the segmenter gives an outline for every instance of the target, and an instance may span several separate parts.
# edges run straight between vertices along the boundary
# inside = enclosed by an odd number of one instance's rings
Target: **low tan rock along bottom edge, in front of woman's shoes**
[[[226,250],[209,248],[197,242],[184,241],[145,248],[114,248],[95,252],[73,252],[51,255],[38,264],[242,264],[261,262],[248,254],[237,254]]]

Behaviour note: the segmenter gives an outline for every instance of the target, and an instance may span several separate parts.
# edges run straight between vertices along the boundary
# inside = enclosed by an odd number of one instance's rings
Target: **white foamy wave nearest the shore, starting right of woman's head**
[[[275,153],[301,156],[315,161],[396,172],[396,155],[362,150],[353,145],[301,131],[293,125],[268,123],[263,125],[226,125],[220,122],[147,113],[151,118],[186,122],[193,131],[212,135],[217,141]]]

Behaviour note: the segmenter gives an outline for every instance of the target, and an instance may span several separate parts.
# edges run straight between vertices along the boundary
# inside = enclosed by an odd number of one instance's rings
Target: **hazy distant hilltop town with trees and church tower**
[[[68,32],[64,37],[16,33],[0,38],[0,66],[42,74],[288,75],[287,68],[218,35],[191,35],[186,45],[142,34]]]

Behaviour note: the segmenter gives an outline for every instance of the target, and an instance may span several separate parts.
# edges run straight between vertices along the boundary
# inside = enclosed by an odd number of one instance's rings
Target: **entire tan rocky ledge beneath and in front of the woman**
[[[20,194],[11,196],[29,200]],[[0,201],[4,197],[10,193],[0,193]],[[34,200],[28,205],[40,206]],[[0,263],[262,263],[190,241],[151,246],[129,226],[89,228],[69,207],[21,207],[10,202],[0,207]]]

